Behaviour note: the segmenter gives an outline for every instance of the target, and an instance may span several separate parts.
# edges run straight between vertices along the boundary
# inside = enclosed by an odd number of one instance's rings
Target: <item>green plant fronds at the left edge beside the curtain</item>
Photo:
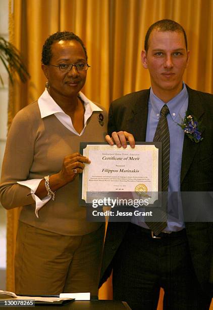
[[[5,38],[2,36],[0,36],[0,60],[8,71],[9,79],[12,84],[14,82],[14,72],[19,75],[19,78],[22,82],[26,82],[27,79],[30,78],[30,75],[27,72],[27,68],[23,63],[23,60],[21,59],[20,52],[13,44],[5,40]],[[4,86],[1,74],[0,81]]]

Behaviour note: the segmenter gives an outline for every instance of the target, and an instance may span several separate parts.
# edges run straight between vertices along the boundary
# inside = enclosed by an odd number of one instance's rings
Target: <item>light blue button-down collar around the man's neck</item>
[[[177,94],[174,98],[172,98],[169,102],[167,102],[168,108],[170,110],[170,115],[175,121],[178,117],[181,107],[188,99],[188,92],[185,83],[183,82],[183,89],[182,91]],[[165,102],[159,99],[157,96],[154,95],[152,88],[150,89],[150,96],[149,96],[151,107],[156,115],[157,119],[159,119],[161,114],[161,109],[165,105]]]

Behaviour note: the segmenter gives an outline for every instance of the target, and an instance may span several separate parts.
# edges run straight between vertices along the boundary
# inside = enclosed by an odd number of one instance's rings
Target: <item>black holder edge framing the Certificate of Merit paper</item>
[[[110,145],[107,142],[80,142],[80,153],[83,155],[83,149],[86,148],[87,145],[97,144],[97,145]],[[129,145],[129,142],[127,142]],[[162,188],[162,142],[135,142],[136,145],[154,145],[158,148],[158,191],[161,191]],[[120,148],[122,149],[122,147]],[[125,148],[124,148],[125,150]],[[85,200],[82,199],[82,183],[83,183],[83,175],[79,174],[79,192],[78,192],[78,200],[79,206],[86,207],[88,204]]]

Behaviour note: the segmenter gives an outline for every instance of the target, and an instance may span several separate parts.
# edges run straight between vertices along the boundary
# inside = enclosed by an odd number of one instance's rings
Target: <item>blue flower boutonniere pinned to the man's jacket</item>
[[[186,116],[184,119],[182,119],[182,123],[178,124],[184,131],[184,133],[194,141],[195,143],[198,143],[203,140],[201,137],[202,132],[200,129],[201,122],[198,122],[196,118],[189,114],[188,111],[186,111]]]

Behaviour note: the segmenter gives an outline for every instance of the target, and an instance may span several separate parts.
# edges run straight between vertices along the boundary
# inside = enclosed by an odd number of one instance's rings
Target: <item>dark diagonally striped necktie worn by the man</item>
[[[158,121],[153,139],[153,142],[162,142],[162,191],[168,191],[169,186],[170,132],[167,122],[167,114],[169,112],[170,110],[165,104],[161,109],[161,118]],[[155,218],[158,220],[157,222],[146,222],[146,224],[155,235],[158,235],[167,226],[167,214],[165,211],[156,209],[153,214],[153,219]]]

